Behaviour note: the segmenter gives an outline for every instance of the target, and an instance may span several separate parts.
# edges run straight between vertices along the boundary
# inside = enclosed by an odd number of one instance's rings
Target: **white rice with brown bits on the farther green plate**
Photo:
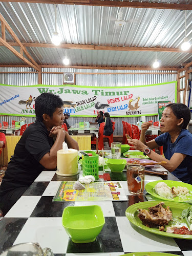
[[[186,187],[169,187],[164,182],[158,182],[155,185],[155,192],[160,197],[172,199],[174,197],[185,198],[186,196],[190,196],[189,190]]]

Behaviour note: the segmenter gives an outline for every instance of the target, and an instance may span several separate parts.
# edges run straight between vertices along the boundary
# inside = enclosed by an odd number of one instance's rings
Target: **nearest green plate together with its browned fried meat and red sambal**
[[[191,205],[186,203],[149,201],[131,205],[125,215],[138,227],[138,232],[143,229],[160,236],[192,239],[192,231],[186,221],[190,208]]]

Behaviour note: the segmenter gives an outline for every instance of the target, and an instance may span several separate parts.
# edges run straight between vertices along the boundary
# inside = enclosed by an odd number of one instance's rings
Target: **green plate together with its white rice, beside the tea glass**
[[[173,202],[192,200],[192,185],[180,181],[152,181],[145,185],[147,193],[155,198]]]

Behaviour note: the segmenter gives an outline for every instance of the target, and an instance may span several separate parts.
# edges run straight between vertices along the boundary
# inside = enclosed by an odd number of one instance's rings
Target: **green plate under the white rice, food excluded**
[[[178,186],[186,187],[189,190],[190,196],[188,196],[186,198],[174,197],[173,199],[161,197],[161,196],[157,195],[156,192],[155,192],[155,185],[157,183],[159,183],[159,182],[164,182],[169,187],[173,187],[173,186],[175,186],[175,187],[178,187]],[[190,185],[188,183],[180,182],[180,181],[173,181],[173,180],[162,180],[162,181],[159,181],[159,180],[156,180],[156,181],[148,182],[145,185],[145,189],[152,196],[154,196],[156,198],[159,198],[159,199],[162,199],[162,200],[165,200],[165,201],[185,202],[185,201],[188,201],[188,200],[192,200],[192,185]]]

